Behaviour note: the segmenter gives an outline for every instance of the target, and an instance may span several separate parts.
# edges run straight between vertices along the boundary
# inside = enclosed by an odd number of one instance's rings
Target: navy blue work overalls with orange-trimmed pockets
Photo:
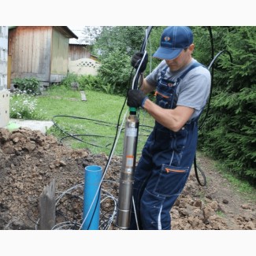
[[[168,67],[161,71],[156,88],[158,106],[176,107],[176,88],[180,80],[198,65],[197,62],[191,65],[176,82],[164,79]],[[171,229],[170,210],[184,189],[195,158],[197,121],[198,118],[188,121],[178,132],[155,123],[135,169],[133,198],[139,229]],[[138,229],[133,209],[129,229]]]

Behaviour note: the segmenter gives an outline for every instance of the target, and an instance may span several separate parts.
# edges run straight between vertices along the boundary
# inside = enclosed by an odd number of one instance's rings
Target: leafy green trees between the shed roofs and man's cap
[[[126,95],[132,83],[132,54],[139,51],[146,36],[146,28],[140,26],[103,27],[94,46],[95,54],[101,61],[98,76],[106,87],[113,92]],[[163,27],[152,28],[147,52],[149,56],[157,49]],[[152,36],[151,36],[152,35]],[[151,40],[152,39],[152,40]],[[158,65],[159,60],[150,58],[145,74]],[[105,88],[106,88],[105,87]],[[103,87],[104,88],[104,87]]]

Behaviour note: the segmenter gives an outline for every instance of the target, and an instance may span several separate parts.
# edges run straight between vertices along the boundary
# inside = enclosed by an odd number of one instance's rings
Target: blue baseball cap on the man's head
[[[168,27],[161,34],[160,46],[153,57],[165,60],[177,58],[193,43],[193,32],[188,27]]]

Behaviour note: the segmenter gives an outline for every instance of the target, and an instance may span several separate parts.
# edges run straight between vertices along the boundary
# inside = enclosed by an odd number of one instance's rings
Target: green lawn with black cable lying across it
[[[37,108],[44,110],[45,120],[56,124],[47,134],[56,136],[72,148],[87,148],[95,154],[109,154],[117,135],[118,121],[121,125],[128,115],[128,106],[126,103],[124,105],[125,98],[96,91],[85,91],[85,94],[87,101],[82,101],[80,91],[54,86],[37,96]],[[143,125],[153,124],[152,118],[141,110],[139,121],[138,154],[150,131],[150,128],[144,128]],[[115,154],[121,155],[123,143],[124,126],[117,140]]]

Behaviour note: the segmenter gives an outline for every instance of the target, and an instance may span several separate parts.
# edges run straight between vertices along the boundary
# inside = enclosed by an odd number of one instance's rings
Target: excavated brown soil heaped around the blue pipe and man
[[[175,230],[254,230],[255,202],[245,199],[217,172],[213,161],[200,157],[206,176],[200,186],[195,170],[173,207]],[[0,128],[0,229],[40,228],[39,198],[55,185],[56,219],[50,229],[80,229],[83,216],[84,168],[102,166],[102,201],[99,229],[117,230],[115,224],[121,158],[108,163],[106,154],[72,150],[52,135],[19,128]],[[107,168],[106,168],[107,166]],[[202,180],[201,173],[198,176]],[[42,213],[41,213],[42,214]]]

